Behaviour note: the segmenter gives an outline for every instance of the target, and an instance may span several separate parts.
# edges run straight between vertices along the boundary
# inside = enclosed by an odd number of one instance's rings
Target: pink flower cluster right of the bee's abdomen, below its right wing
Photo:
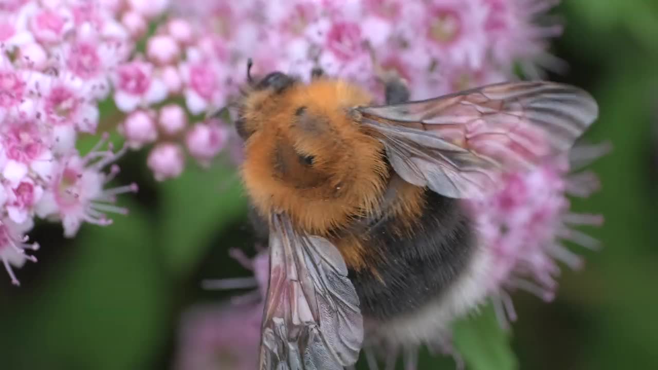
[[[588,163],[609,150],[607,144],[580,146],[571,161],[560,157],[531,172],[504,175],[503,188],[484,199],[467,200],[480,242],[490,255],[488,288],[499,322],[507,327],[516,313],[508,290],[526,290],[545,301],[553,300],[560,272],[557,262],[578,269],[582,259],[565,241],[594,249],[596,240],[576,230],[601,225],[601,215],[569,211],[568,196],[587,197],[598,190],[597,176],[571,172],[576,163]]]

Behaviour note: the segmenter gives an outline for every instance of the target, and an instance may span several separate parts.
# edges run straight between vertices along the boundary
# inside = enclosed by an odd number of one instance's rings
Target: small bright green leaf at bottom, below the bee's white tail
[[[505,330],[501,329],[492,305],[480,313],[462,319],[454,327],[455,349],[470,370],[513,370],[519,365],[509,344]]]

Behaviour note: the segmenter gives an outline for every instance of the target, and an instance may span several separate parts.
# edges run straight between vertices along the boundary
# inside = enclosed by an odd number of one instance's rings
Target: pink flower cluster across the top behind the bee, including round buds
[[[130,3],[142,18],[153,12]],[[549,3],[172,1],[165,20],[145,37],[145,55],[116,74],[114,101],[129,115],[120,130],[134,148],[156,143],[148,165],[163,180],[183,171],[182,145],[202,164],[224,148],[231,133],[222,122],[190,127],[187,120],[229,105],[245,83],[248,59],[255,74],[280,70],[307,80],[320,67],[379,95],[374,66],[394,69],[413,86],[414,99],[513,78],[514,61],[537,74],[534,63],[553,61],[545,38],[561,32],[559,25],[535,22]],[[121,19],[135,38],[145,27],[132,13]]]

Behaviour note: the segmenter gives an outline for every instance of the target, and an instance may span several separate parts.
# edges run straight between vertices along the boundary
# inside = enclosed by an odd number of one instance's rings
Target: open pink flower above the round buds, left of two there
[[[113,74],[114,102],[124,112],[137,107],[148,107],[166,98],[167,88],[162,80],[153,74],[153,65],[143,61],[133,61],[119,66]]]

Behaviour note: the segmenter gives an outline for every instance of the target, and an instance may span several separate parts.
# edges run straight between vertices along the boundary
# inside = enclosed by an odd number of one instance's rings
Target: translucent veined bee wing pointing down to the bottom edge
[[[336,246],[293,230],[284,214],[270,216],[269,238],[260,369],[342,370],[355,363],[363,318]]]

